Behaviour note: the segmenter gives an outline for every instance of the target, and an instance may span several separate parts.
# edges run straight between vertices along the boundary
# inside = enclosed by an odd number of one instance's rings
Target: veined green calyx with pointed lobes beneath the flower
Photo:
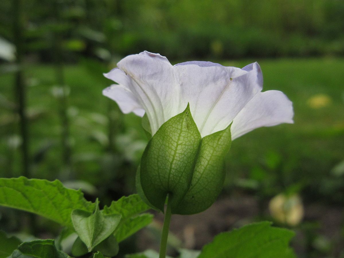
[[[204,211],[222,190],[230,144],[230,126],[201,138],[188,104],[148,142],[136,178],[139,195],[164,211],[169,194],[172,214]]]

